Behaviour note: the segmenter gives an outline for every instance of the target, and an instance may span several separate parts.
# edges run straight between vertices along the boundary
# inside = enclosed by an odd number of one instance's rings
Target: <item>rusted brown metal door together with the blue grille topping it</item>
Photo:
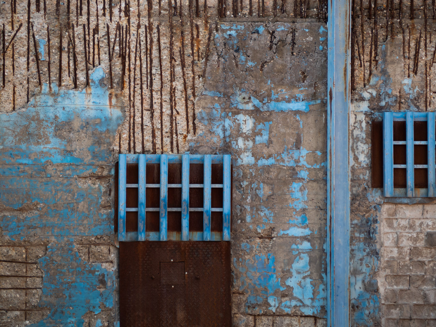
[[[230,327],[230,156],[120,154],[118,175],[120,325]]]

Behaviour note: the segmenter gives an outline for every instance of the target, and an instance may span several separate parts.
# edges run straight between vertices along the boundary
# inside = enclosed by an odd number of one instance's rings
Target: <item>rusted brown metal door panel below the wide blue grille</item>
[[[120,242],[120,326],[230,327],[230,242]]]

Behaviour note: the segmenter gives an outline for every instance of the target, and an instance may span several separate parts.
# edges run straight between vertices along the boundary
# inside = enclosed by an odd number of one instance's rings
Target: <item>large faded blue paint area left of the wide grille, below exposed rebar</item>
[[[91,87],[82,92],[44,85],[27,109],[0,115],[0,164],[7,164],[0,201],[12,211],[0,217],[3,235],[113,233],[113,211],[102,210],[106,186],[75,178],[112,165],[112,144],[123,116],[102,84],[104,76],[96,68]],[[45,178],[52,175],[56,178]],[[25,204],[31,210],[23,215]]]

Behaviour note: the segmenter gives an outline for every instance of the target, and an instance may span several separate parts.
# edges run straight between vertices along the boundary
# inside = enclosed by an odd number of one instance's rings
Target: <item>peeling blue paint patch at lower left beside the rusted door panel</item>
[[[47,318],[29,326],[83,326],[85,313],[113,307],[114,272],[82,261],[72,243],[55,242],[47,249],[47,255],[38,260],[44,278],[37,306],[51,311]]]

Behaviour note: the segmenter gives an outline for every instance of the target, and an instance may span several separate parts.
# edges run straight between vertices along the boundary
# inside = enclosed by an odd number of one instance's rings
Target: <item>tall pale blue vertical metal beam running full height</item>
[[[351,0],[328,1],[327,326],[350,326]]]

